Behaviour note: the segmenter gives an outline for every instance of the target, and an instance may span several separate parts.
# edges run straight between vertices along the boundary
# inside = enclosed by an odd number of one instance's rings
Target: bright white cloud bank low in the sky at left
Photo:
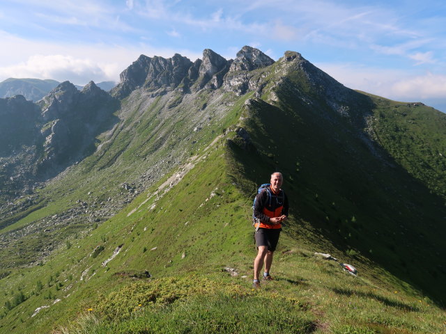
[[[0,31],[3,49],[0,53],[0,81],[9,77],[69,80],[84,85],[89,81],[119,81],[119,74],[139,55],[170,58],[179,53],[191,61],[202,54],[187,49],[156,48],[146,43],[137,45],[76,45],[39,42]]]

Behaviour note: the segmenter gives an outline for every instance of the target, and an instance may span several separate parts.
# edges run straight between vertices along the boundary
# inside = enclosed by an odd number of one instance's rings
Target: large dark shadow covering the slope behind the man
[[[291,213],[301,220],[285,232],[308,234],[299,225],[309,222],[315,250],[324,251],[325,239],[356,260],[363,255],[443,305],[443,199],[361,137],[360,122],[281,93],[277,106],[252,101],[243,125],[249,136],[231,145],[249,191],[282,171]],[[355,107],[364,115],[372,104]]]

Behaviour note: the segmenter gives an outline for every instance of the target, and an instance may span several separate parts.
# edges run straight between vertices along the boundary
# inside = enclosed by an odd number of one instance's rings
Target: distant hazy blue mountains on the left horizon
[[[23,95],[26,100],[38,101],[47,95],[53,88],[61,84],[59,81],[51,79],[15,79],[9,78],[0,82],[0,98]],[[108,91],[116,86],[114,81],[102,81],[96,84],[102,90]],[[83,86],[75,85],[78,90]]]

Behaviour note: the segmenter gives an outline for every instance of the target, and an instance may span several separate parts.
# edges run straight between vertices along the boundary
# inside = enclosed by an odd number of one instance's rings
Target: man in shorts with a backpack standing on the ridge
[[[254,238],[258,249],[254,260],[254,288],[260,287],[259,275],[263,265],[265,265],[263,280],[272,280],[270,276],[272,256],[282,231],[282,222],[286,221],[289,209],[288,198],[280,189],[283,182],[282,173],[272,173],[269,188],[258,193],[254,202],[256,217]]]

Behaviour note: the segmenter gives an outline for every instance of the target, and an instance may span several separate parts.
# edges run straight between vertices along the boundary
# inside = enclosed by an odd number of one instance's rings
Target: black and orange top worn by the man
[[[269,191],[269,194],[268,194]],[[256,202],[254,204],[254,216],[259,219],[259,228],[282,228],[282,224],[270,223],[270,218],[279,217],[284,214],[288,216],[288,198],[282,189],[278,193],[272,189],[263,189],[257,194]],[[256,227],[259,223],[256,223]]]

